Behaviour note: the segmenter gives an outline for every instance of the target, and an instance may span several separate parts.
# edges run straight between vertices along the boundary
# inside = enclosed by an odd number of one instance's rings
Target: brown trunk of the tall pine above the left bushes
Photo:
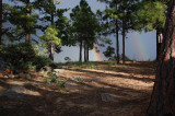
[[[27,0],[27,4],[30,4],[30,0]],[[26,15],[31,15],[31,8],[27,8],[26,9]],[[31,38],[31,34],[30,34],[30,26],[26,27],[27,31],[26,31],[26,35],[25,35],[25,42],[26,43],[30,43],[30,38]]]

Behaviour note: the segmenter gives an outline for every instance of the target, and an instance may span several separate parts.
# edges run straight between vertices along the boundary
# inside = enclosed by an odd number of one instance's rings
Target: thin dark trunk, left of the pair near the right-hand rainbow
[[[117,63],[119,63],[119,40],[118,40],[118,25],[117,25],[117,21],[116,21],[116,60]]]

